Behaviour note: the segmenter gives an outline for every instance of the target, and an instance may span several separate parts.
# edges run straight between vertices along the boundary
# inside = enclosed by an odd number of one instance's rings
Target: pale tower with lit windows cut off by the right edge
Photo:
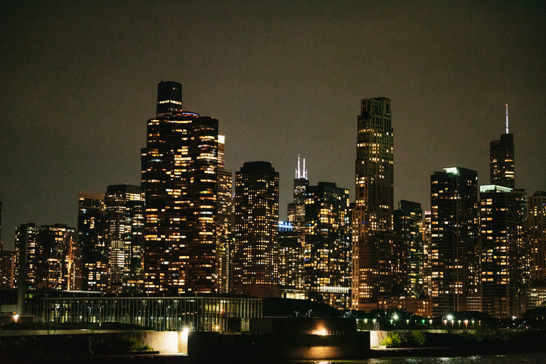
[[[546,304],[546,191],[528,198],[528,259],[530,287],[527,309]]]

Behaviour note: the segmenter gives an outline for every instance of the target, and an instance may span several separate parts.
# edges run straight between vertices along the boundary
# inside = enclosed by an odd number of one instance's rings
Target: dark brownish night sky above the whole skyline
[[[76,225],[78,191],[140,182],[160,80],[220,120],[226,164],[271,161],[286,218],[298,154],[354,197],[360,100],[392,100],[395,201],[447,166],[489,182],[509,104],[516,187],[546,190],[544,1],[0,3],[1,240]],[[396,203],[396,202],[395,202]]]

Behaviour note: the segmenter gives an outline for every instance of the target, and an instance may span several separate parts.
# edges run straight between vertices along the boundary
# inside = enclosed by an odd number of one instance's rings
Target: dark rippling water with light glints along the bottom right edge
[[[539,364],[546,354],[475,355],[454,358],[373,358],[365,360],[294,360],[287,364]]]

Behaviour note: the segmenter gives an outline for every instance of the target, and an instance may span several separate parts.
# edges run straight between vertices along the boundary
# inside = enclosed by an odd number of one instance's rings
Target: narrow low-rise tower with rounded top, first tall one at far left
[[[15,228],[15,285],[36,289],[38,263],[38,235],[40,228],[28,223]]]

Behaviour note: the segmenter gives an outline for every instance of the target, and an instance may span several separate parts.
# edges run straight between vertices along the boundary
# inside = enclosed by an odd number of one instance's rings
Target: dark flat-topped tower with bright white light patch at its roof
[[[480,311],[478,172],[444,168],[430,183],[432,314]]]

